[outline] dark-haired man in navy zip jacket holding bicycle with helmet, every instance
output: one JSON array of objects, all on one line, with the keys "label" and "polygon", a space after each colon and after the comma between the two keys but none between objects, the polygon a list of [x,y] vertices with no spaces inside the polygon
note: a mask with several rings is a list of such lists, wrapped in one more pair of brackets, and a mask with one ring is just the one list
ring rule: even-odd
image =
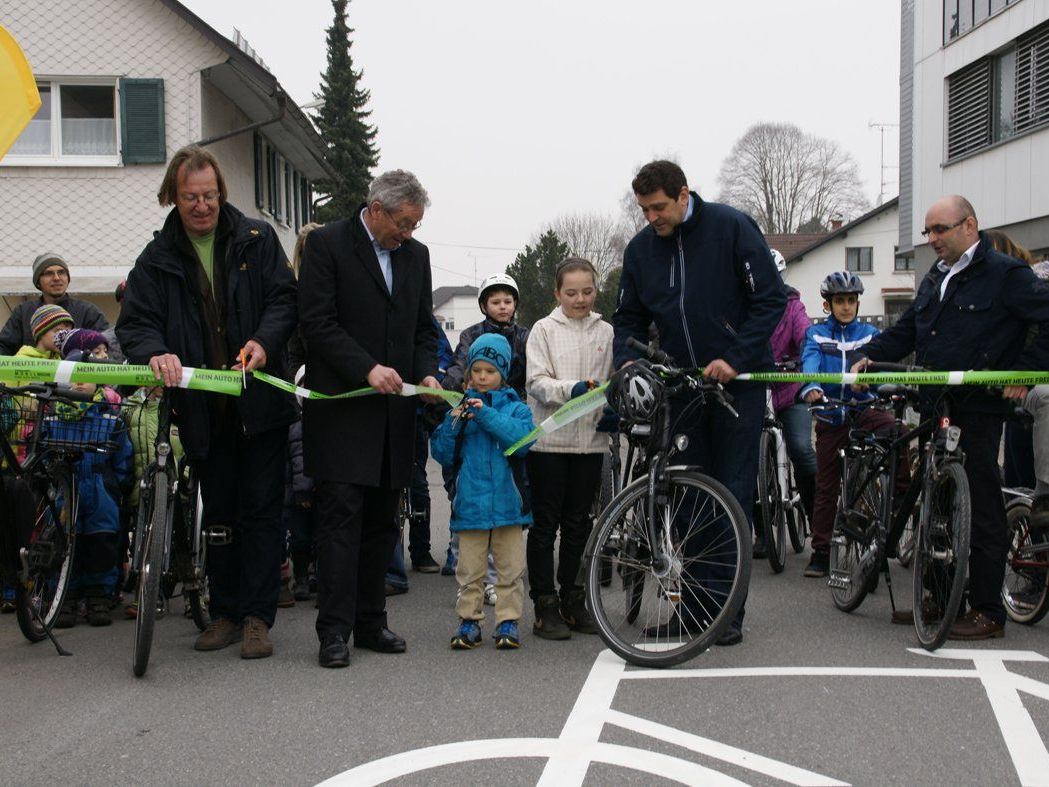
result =
[{"label": "dark-haired man in navy zip jacket holding bicycle with helmet", "polygon": [[[689,438],[680,461],[701,465],[725,484],[750,519],[765,389],[732,380],[741,371],[771,366],[769,338],[787,303],[779,274],[753,219],[728,206],[704,203],[688,190],[677,164],[646,164],[631,186],[648,227],[634,236],[623,255],[619,306],[612,320],[615,365],[636,357],[626,340],[645,341],[655,323],[661,349],[729,384],[738,418],[715,405],[691,410],[687,423],[677,427]],[[740,642],[742,622],[741,611],[719,643]]]}]

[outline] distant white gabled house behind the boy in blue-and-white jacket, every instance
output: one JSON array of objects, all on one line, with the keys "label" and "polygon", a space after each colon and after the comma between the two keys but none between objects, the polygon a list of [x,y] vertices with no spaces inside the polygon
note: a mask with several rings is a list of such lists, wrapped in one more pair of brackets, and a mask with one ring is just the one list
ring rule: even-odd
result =
[{"label": "distant white gabled house behind the boy in blue-and-white jacket", "polygon": [[899,200],[893,198],[787,257],[785,280],[817,319],[825,316],[820,282],[834,271],[853,271],[863,280],[860,316],[892,322],[914,298],[912,260],[897,256],[898,237]]}]

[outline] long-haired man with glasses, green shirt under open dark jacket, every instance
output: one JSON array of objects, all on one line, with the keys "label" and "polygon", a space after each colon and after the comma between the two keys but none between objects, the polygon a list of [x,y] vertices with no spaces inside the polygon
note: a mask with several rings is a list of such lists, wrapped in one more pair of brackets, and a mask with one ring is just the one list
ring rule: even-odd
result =
[{"label": "long-haired man with glasses, green shirt under open dark jacket", "polygon": [[[131,363],[148,363],[168,387],[179,384],[184,365],[287,375],[292,267],[273,228],[248,218],[227,193],[214,155],[196,146],[176,152],[157,194],[174,208],[128,276],[116,335]],[[273,654],[284,456],[296,411],[283,391],[247,381],[238,398],[175,387],[171,402],[211,534],[212,622],[194,647],[242,641],[241,658],[263,658]]]}]

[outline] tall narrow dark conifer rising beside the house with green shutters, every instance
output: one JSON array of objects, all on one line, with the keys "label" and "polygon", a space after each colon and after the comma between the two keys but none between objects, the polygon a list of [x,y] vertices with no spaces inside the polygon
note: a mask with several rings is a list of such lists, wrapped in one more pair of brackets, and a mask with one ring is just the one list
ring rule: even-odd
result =
[{"label": "tall narrow dark conifer rising beside the house with green shutters", "polygon": [[327,29],[327,70],[315,97],[323,100],[317,110],[317,128],[327,148],[327,159],[341,177],[315,184],[318,192],[330,197],[317,210],[320,221],[350,215],[364,201],[371,170],[379,163],[378,129],[368,125],[371,111],[365,109],[371,93],[361,87],[364,71],[354,70],[349,54],[354,29],[346,24],[348,2],[331,0],[335,21]]}]

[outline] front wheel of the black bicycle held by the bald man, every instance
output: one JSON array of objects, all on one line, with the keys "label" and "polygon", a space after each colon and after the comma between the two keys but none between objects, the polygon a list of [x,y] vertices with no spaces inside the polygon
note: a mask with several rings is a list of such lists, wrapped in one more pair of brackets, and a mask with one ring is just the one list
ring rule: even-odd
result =
[{"label": "front wheel of the black bicycle held by the bald man", "polygon": [[915,536],[915,633],[922,647],[935,651],[958,617],[969,563],[969,483],[962,466],[944,464],[921,505],[928,510]]}]

